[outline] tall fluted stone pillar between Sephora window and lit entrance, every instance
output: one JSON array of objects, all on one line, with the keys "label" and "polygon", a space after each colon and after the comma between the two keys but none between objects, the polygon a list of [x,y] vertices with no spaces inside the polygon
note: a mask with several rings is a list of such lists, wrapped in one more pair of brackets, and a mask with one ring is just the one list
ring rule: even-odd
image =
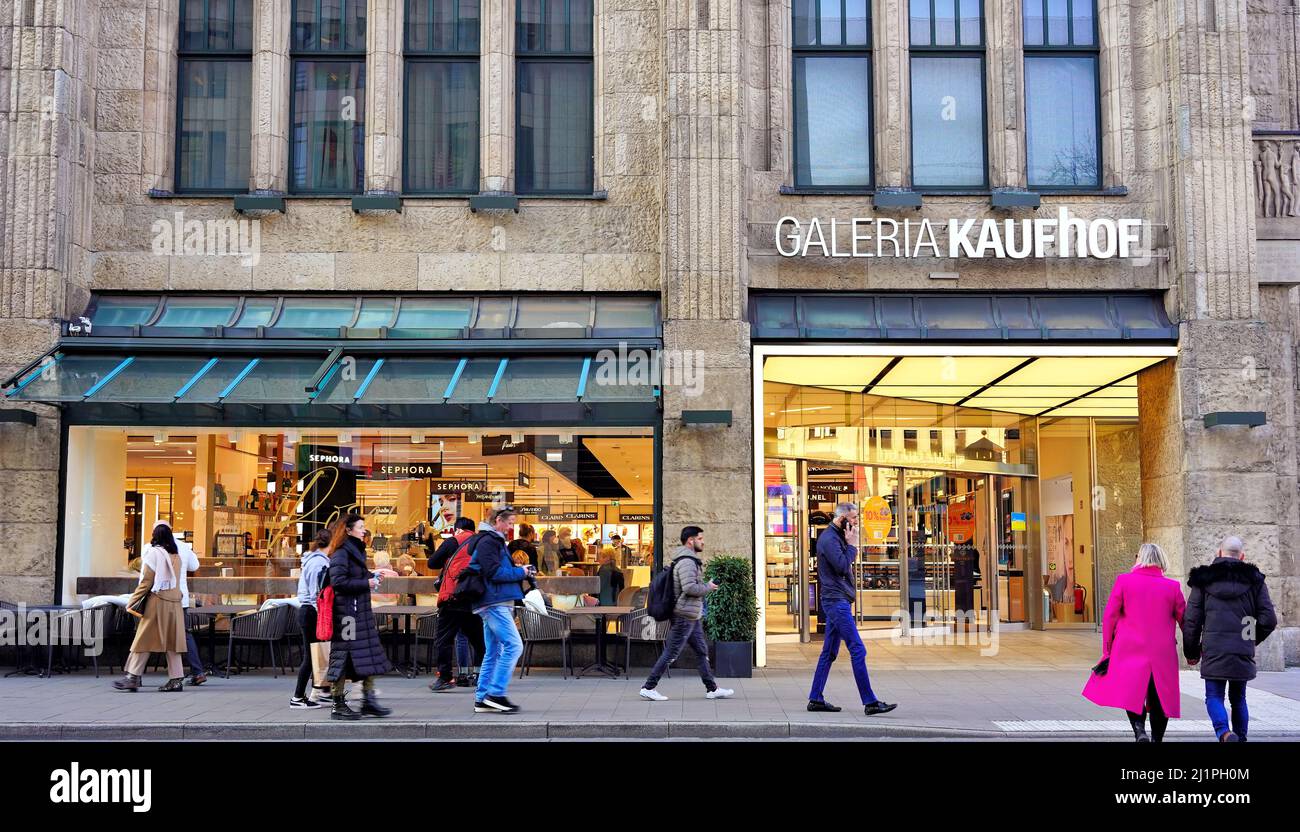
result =
[{"label": "tall fluted stone pillar between Sephora window and lit entrance", "polygon": [[[744,172],[766,161],[753,136],[767,131],[745,116],[766,77],[763,42],[749,48],[745,27],[766,20],[744,0],[668,0],[664,17],[664,347],[701,351],[705,376],[698,396],[664,391],[662,512],[666,543],[698,524],[712,555],[753,552]],[[682,410],[731,411],[732,424],[685,428]]]}]

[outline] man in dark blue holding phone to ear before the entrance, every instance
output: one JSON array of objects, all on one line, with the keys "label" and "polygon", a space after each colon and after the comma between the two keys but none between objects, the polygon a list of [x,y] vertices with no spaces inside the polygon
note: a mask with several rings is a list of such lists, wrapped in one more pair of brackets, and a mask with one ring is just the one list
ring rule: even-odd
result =
[{"label": "man in dark blue holding phone to ear before the entrance", "polygon": [[826,640],[822,642],[822,655],[812,673],[812,689],[809,690],[809,710],[835,712],[840,708],[826,701],[826,680],[831,675],[831,664],[840,655],[840,642],[849,646],[849,660],[853,663],[853,679],[858,682],[858,696],[867,716],[888,714],[898,707],[876,698],[871,692],[871,679],[867,676],[867,649],[858,634],[853,620],[853,598],[857,594],[853,578],[853,562],[857,551],[849,545],[848,533],[858,524],[858,507],[853,503],[840,503],[835,507],[831,520],[816,538],[816,575],[822,593],[822,618],[826,620]]}]

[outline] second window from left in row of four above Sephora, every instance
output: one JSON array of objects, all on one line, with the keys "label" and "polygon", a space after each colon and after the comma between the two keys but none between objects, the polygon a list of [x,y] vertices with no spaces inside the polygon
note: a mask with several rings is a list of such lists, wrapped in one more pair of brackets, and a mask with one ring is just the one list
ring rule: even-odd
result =
[{"label": "second window from left in row of four above Sephora", "polygon": [[290,190],[365,190],[365,0],[294,0],[290,56]]}]

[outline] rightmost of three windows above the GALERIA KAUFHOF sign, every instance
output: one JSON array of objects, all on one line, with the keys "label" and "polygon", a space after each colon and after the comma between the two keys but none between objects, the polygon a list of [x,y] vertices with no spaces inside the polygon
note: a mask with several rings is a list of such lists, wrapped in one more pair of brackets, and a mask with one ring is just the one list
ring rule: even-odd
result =
[{"label": "rightmost of three windows above the GALERIA KAUFHOF sign", "polygon": [[1024,0],[1030,187],[1101,187],[1096,0]]}]

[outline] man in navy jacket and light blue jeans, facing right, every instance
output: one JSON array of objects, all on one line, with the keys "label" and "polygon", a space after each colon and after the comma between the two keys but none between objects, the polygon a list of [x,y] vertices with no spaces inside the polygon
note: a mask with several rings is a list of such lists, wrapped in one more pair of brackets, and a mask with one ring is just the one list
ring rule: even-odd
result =
[{"label": "man in navy jacket and light blue jeans, facing right", "polygon": [[[506,534],[515,525],[515,510],[491,512],[490,523],[480,523],[482,540],[474,546],[471,566],[477,564],[486,590],[473,612],[484,621],[484,662],[478,668],[474,714],[514,714],[519,706],[506,698],[510,675],[524,651],[515,628],[515,602],[524,599],[521,582],[536,575],[530,566],[516,567],[506,551]],[[468,567],[467,567],[468,568]]]}]

